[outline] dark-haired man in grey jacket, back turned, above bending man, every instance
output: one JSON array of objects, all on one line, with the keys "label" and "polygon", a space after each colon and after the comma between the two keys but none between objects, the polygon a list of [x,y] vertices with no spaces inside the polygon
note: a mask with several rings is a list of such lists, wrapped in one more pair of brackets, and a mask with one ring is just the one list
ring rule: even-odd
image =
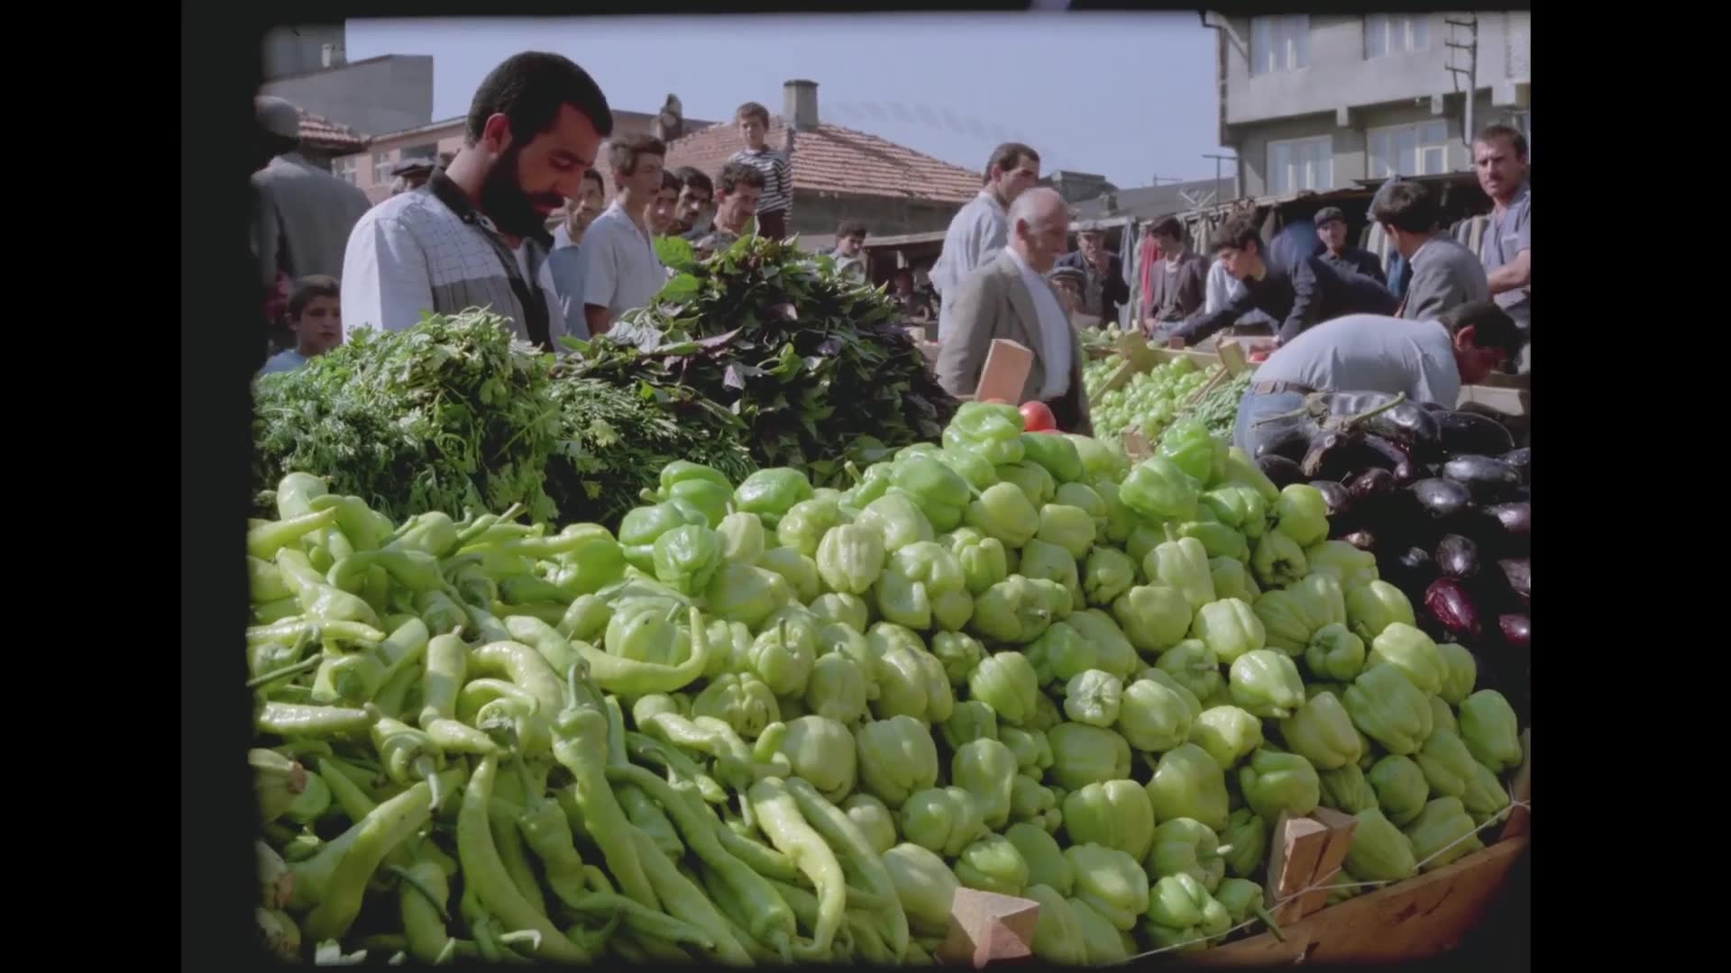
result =
[{"label": "dark-haired man in grey jacket, back turned, above bending man", "polygon": [[1399,317],[1437,320],[1442,312],[1490,300],[1473,251],[1437,232],[1437,197],[1425,184],[1397,182],[1371,203],[1371,218],[1412,265]]}]

